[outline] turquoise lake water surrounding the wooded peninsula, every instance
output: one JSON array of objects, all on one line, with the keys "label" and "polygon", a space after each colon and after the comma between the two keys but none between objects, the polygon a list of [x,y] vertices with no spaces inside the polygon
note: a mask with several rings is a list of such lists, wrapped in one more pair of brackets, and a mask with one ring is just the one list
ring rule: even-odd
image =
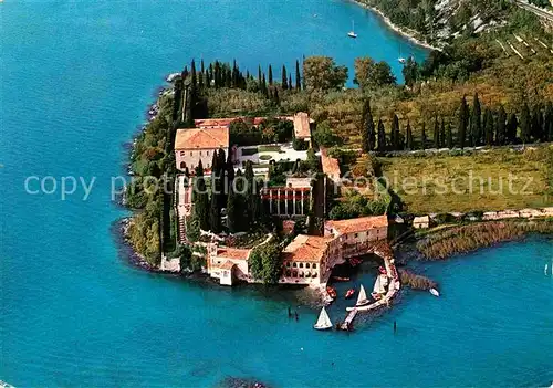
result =
[{"label": "turquoise lake water surrounding the wooded peninsula", "polygon": [[[352,20],[357,40],[345,38]],[[20,387],[210,387],[228,376],[281,387],[553,381],[553,277],[543,274],[551,240],[418,264],[442,297],[406,291],[351,335],[313,331],[317,312],[305,306],[299,323],[289,321],[292,295],[146,273],[118,251],[113,222],[126,212],[111,200],[111,177],[124,172],[125,143],[164,75],[192,56],[236,57],[255,71],[258,63],[291,69],[302,55],[349,66],[371,55],[396,72],[399,53],[424,57],[372,13],[325,0],[6,0],[0,29],[0,379]],[[83,201],[82,188],[65,200],[59,191],[25,193],[30,176],[96,179]]]}]

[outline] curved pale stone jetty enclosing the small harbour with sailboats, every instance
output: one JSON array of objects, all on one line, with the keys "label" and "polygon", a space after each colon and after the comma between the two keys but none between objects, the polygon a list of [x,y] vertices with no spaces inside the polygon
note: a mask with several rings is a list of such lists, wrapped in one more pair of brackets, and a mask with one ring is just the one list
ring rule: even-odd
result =
[{"label": "curved pale stone jetty enclosing the small harbour with sailboats", "polygon": [[[388,242],[379,241],[373,244],[367,253],[374,253],[384,260],[384,265],[386,268],[386,276],[388,277],[388,290],[382,295],[378,301],[371,303],[366,306],[354,306],[347,307],[347,315],[345,319],[340,324],[340,328],[343,331],[349,331],[352,324],[359,312],[369,312],[377,310],[383,306],[389,306],[392,300],[398,294],[401,289],[401,283],[397,274],[396,265],[394,262],[394,253]],[[380,275],[378,275],[380,276]]]}]

